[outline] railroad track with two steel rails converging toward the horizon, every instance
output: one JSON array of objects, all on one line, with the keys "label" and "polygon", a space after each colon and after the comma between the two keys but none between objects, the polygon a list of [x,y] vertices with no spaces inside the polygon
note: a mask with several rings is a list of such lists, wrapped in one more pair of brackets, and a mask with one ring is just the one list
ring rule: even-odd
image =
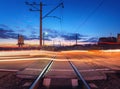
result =
[{"label": "railroad track with two steel rails converging toward the horizon", "polygon": [[[43,68],[43,70],[41,71],[41,73],[39,74],[39,76],[35,79],[35,81],[31,84],[29,89],[91,89],[90,86],[88,85],[88,83],[85,81],[85,79],[82,77],[81,73],[78,71],[78,69],[76,68],[76,66],[70,61],[69,58],[66,57],[66,61],[67,63],[71,66],[72,70],[74,71],[74,74],[77,78],[77,82],[78,85],[77,87],[73,88],[71,85],[69,85],[70,87],[64,87],[64,82],[67,81],[68,79],[64,78],[61,82],[61,84],[63,84],[63,87],[61,88],[60,86],[57,87],[43,87],[43,80],[45,79],[45,75],[47,73],[49,73],[52,64],[54,63],[54,59],[51,59],[51,61],[49,61],[49,63]],[[57,83],[58,80],[56,79],[55,82]],[[52,85],[51,85],[52,86]]]}]

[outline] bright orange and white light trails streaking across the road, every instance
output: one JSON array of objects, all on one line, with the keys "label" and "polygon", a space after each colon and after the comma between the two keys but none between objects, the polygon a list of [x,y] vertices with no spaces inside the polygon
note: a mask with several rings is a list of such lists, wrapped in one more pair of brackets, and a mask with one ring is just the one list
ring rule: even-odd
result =
[{"label": "bright orange and white light trails streaking across the road", "polygon": [[[24,55],[26,55],[25,54],[25,51],[22,51],[23,53],[24,53]],[[34,60],[51,60],[51,58],[50,57],[34,57],[34,56],[41,56],[41,55],[44,55],[44,56],[52,56],[53,54],[51,54],[51,52],[49,52],[49,54],[46,54],[46,53],[48,53],[48,52],[44,52],[44,53],[41,53],[42,51],[40,51],[40,52],[36,52],[36,51],[30,51],[31,53],[30,54],[32,54],[32,56],[30,56],[30,54],[29,54],[29,56],[20,56],[20,55],[16,55],[16,53],[11,53],[12,54],[12,56],[9,56],[10,54],[8,53],[8,52],[4,52],[4,54],[1,54],[0,53],[0,62],[12,62],[12,61],[34,61]],[[23,54],[22,53],[22,54]],[[40,53],[40,54],[39,54]],[[53,53],[53,52],[52,52]],[[90,55],[90,57],[92,58],[92,57],[94,57],[94,55],[91,55],[91,53],[93,54],[96,54],[96,55],[104,55],[104,56],[107,56],[107,57],[109,57],[108,56],[108,54],[106,54],[106,53],[110,53],[110,55],[111,55],[111,53],[117,53],[116,55],[118,55],[119,53],[120,53],[120,49],[116,49],[116,50],[70,50],[70,51],[61,51],[60,52],[61,54],[60,55],[64,55],[64,53],[66,54],[68,54],[68,55],[70,55],[70,56],[75,56],[75,55],[78,55],[78,54],[89,54]],[[69,54],[70,53],[70,54]],[[14,55],[15,54],[15,55]],[[21,53],[20,53],[21,54]],[[54,54],[55,54],[55,52],[54,52]],[[75,55],[74,55],[75,54]],[[4,57],[3,57],[3,55],[4,55]],[[56,52],[56,55],[58,55],[58,53]],[[113,55],[114,56],[114,55]],[[27,57],[27,58],[26,58]],[[28,58],[29,57],[29,58]],[[85,58],[82,58],[82,59],[78,59],[78,58],[74,58],[74,59],[72,59],[72,61],[84,61],[84,59],[86,59],[86,56],[85,56]],[[66,61],[66,59],[64,59],[64,58],[57,58],[57,59],[53,59],[54,61]]]}]

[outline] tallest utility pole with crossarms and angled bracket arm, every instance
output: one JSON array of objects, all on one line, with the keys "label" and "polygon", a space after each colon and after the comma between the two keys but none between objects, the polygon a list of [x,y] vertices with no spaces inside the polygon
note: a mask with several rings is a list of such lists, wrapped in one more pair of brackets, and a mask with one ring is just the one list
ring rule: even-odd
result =
[{"label": "tallest utility pole with crossarms and angled bracket arm", "polygon": [[[42,2],[40,2],[40,4],[37,4],[36,2],[33,2],[33,3],[29,3],[29,2],[25,2],[26,5],[29,5],[29,6],[32,6],[35,10],[33,9],[30,9],[30,11],[39,11],[40,12],[40,48],[42,48],[42,20],[45,18],[45,17],[51,17],[49,16],[49,14],[51,14],[54,10],[56,10],[58,7],[62,6],[62,8],[64,8],[64,5],[63,3],[60,3],[58,4],[55,8],[53,8],[51,11],[49,11],[45,16],[42,16],[42,9],[43,9],[43,6],[44,4]],[[39,5],[39,8],[37,8],[36,6]],[[58,18],[56,16],[52,16],[54,18]]]}]

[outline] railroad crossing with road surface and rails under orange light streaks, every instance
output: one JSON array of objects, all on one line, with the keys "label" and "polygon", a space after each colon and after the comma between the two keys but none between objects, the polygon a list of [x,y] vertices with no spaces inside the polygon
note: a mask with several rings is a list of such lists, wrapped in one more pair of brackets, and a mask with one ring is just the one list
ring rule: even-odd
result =
[{"label": "railroad crossing with road surface and rails under orange light streaks", "polygon": [[106,80],[106,73],[120,70],[118,55],[119,52],[103,51],[1,52],[0,71],[1,76],[4,72],[14,72],[17,78],[25,79],[20,83],[24,89],[32,89],[38,81],[38,89],[79,89],[83,86],[82,89],[95,89],[98,86],[91,81]]}]

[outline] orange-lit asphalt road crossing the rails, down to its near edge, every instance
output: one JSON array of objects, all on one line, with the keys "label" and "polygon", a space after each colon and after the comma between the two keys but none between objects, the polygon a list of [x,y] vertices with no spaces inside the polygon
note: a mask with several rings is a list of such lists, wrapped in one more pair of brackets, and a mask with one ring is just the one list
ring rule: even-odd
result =
[{"label": "orange-lit asphalt road crossing the rails, down to its near edge", "polygon": [[[2,51],[0,52],[0,77],[5,72],[21,78],[35,78],[45,65],[55,56],[47,78],[76,78],[69,59],[77,67],[85,80],[106,79],[106,73],[120,71],[119,51]],[[5,74],[3,74],[3,72]]]}]

